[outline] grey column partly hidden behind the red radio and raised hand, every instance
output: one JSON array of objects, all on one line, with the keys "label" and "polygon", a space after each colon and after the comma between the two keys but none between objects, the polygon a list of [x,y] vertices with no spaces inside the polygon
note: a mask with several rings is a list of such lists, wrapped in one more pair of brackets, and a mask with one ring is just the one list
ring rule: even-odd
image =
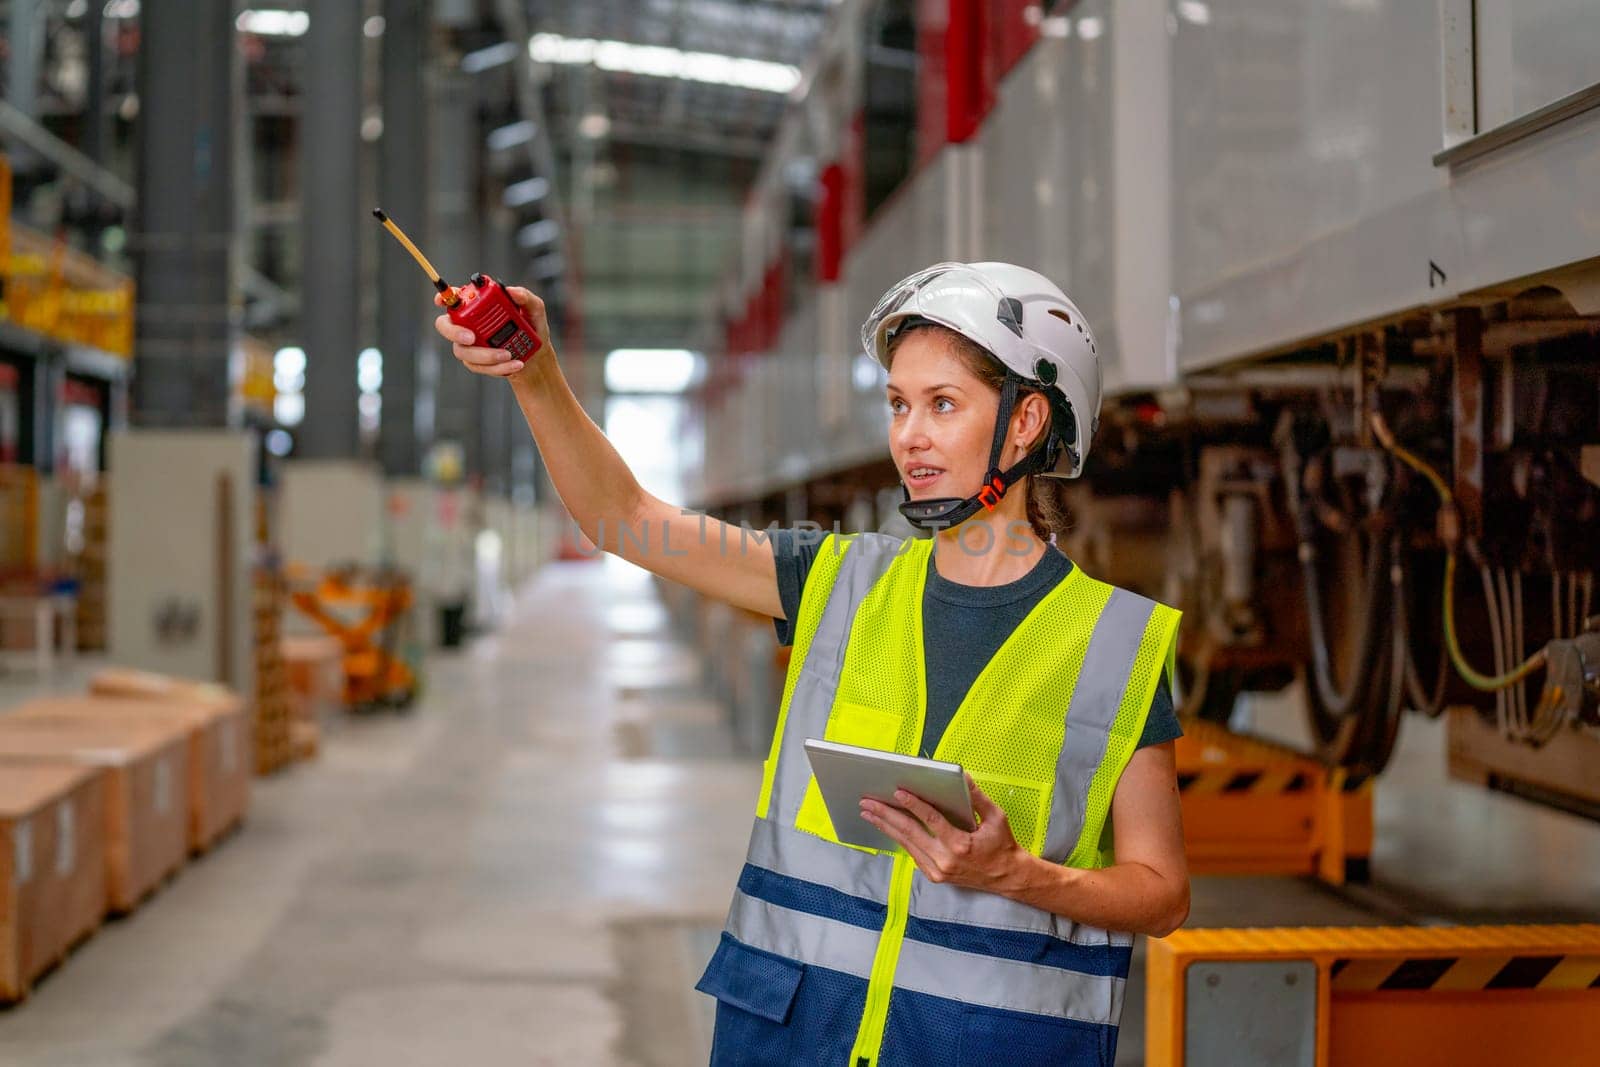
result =
[{"label": "grey column partly hidden behind the red radio and raised hand", "polygon": [[[483,158],[483,139],[472,78],[459,70],[438,70],[429,110],[432,122],[427,131],[432,165],[429,242],[434,250],[430,258],[446,280],[461,283],[469,274],[482,269],[477,262],[477,168]],[[486,382],[462,368],[451,357],[448,346],[438,344],[437,350],[434,438],[461,445],[470,478],[483,470],[478,442],[480,395],[485,392],[483,386],[502,382]]]}]

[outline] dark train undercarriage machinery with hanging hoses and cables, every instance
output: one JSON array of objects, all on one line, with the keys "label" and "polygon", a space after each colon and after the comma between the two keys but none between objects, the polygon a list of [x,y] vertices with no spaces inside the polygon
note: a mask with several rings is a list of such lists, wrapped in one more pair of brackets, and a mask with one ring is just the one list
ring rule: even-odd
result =
[{"label": "dark train undercarriage machinery with hanging hoses and cables", "polygon": [[[1189,518],[1171,530],[1200,553],[1184,587],[1198,616],[1190,713],[1226,721],[1237,691],[1298,678],[1317,753],[1363,774],[1387,765],[1406,713],[1446,709],[1453,731],[1459,720],[1474,744],[1518,758],[1600,750],[1600,544],[1584,533],[1600,528],[1600,486],[1582,430],[1563,434],[1600,414],[1584,410],[1594,373],[1579,366],[1587,390],[1562,390],[1571,365],[1530,350],[1485,386],[1482,368],[1458,376],[1459,358],[1430,358],[1438,346],[1390,330],[1334,346],[1320,368],[1218,376],[1210,389],[1243,397],[1250,426],[1170,413],[1165,434],[1194,456]],[[1405,360],[1390,374],[1394,352]],[[1478,437],[1442,418],[1459,414],[1464,389],[1498,394]],[[1478,464],[1454,472],[1462,501],[1442,470],[1478,443]],[[1586,763],[1549,763],[1573,761]],[[1590,813],[1592,792],[1563,779],[1539,798]]]}]

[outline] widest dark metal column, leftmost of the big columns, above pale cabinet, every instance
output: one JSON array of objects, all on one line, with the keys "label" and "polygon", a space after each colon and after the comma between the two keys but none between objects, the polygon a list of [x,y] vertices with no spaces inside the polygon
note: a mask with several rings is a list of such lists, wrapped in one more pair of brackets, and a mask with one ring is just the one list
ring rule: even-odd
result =
[{"label": "widest dark metal column, leftmost of the big columns, above pale cabinet", "polygon": [[134,374],[141,427],[229,424],[234,237],[232,5],[141,14]]}]

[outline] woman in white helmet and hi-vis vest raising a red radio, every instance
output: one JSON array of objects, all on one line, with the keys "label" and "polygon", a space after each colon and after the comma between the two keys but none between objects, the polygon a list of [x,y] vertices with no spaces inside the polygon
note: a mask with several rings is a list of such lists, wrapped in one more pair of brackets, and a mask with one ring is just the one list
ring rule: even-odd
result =
[{"label": "woman in white helmet and hi-vis vest raising a red radio", "polygon": [[[1163,675],[1178,613],[1054,547],[1054,478],[1099,411],[1078,309],[1010,264],[939,264],[862,330],[888,368],[901,512],[931,537],[749,542],[643,490],[546,349],[526,366],[440,317],[456,357],[510,378],[563,502],[603,547],[778,619],[794,641],[728,926],[698,989],[714,1064],[1110,1064],[1133,936],[1189,912]],[[603,525],[602,525],[603,523]],[[654,531],[674,550],[651,552]],[[739,545],[730,550],[728,545]],[[861,801],[901,848],[838,843],[802,742],[962,763],[978,829],[917,797]]]}]

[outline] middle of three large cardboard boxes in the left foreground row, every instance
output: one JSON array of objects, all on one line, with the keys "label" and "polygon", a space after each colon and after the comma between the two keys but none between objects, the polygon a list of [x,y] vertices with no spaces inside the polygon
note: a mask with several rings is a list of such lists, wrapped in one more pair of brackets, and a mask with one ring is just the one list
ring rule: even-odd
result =
[{"label": "middle of three large cardboard boxes in the left foreground row", "polygon": [[150,723],[0,715],[0,761],[61,760],[106,771],[110,910],[131,912],[189,851],[189,733]]}]

